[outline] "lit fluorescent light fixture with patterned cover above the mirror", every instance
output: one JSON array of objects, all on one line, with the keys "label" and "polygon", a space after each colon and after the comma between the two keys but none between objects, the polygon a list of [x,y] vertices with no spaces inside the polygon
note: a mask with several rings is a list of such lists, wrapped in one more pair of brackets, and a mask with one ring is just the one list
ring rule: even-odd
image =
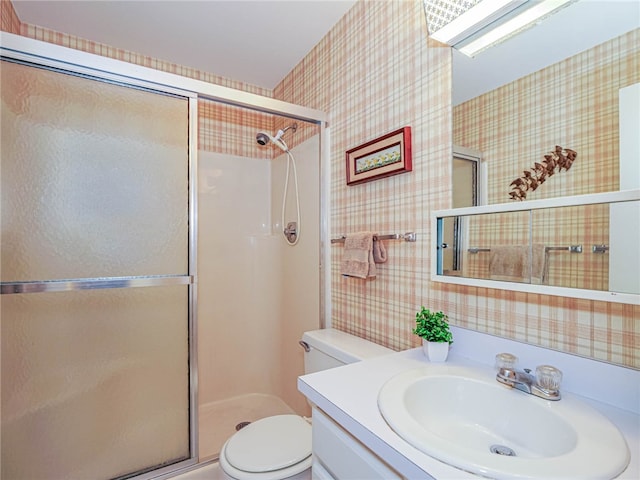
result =
[{"label": "lit fluorescent light fixture with patterned cover above the mirror", "polygon": [[423,0],[431,38],[474,56],[574,0]]}]

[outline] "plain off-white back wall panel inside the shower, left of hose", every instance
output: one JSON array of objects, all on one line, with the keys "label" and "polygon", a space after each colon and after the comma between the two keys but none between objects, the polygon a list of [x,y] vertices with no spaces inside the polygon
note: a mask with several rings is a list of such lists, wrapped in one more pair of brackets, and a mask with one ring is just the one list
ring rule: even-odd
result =
[{"label": "plain off-white back wall panel inside the shower, left of hose", "polygon": [[199,152],[199,403],[275,394],[280,258],[270,164]]}]

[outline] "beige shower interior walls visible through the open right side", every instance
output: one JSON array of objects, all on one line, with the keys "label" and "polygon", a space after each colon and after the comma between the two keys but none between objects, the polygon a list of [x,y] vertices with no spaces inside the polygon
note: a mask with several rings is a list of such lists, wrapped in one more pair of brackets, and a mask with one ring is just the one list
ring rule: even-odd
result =
[{"label": "beige shower interior walls visible through the open right side", "polygon": [[[199,114],[198,403],[207,458],[242,421],[308,413],[296,377],[298,340],[319,327],[319,140],[285,136],[302,212],[300,240],[289,246],[280,226],[287,156],[255,141],[258,131],[283,128],[278,119],[209,101]],[[291,170],[285,221],[295,220],[293,186]]]}]

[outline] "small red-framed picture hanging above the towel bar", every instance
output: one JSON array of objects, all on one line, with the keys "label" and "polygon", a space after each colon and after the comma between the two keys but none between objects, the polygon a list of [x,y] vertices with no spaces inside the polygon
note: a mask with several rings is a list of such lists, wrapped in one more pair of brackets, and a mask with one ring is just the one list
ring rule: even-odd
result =
[{"label": "small red-framed picture hanging above the towel bar", "polygon": [[411,127],[404,127],[346,153],[347,185],[411,171]]}]

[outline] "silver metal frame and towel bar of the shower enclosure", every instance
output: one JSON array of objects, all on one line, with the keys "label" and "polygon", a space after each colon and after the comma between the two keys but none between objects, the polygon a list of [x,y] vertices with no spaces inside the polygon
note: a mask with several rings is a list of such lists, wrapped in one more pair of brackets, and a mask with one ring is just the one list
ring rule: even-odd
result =
[{"label": "silver metal frame and towel bar of the shower enclosure", "polygon": [[[115,60],[100,55],[62,47],[52,43],[0,32],[0,55],[13,59],[72,72],[76,75],[87,75],[103,81],[113,81],[129,86],[140,86],[189,98],[189,275],[181,277],[120,277],[110,279],[94,279],[87,283],[86,279],[73,279],[66,282],[13,282],[1,287],[2,294],[29,291],[45,291],[42,289],[65,290],[87,288],[123,288],[144,287],[150,285],[189,284],[189,377],[190,377],[190,450],[191,458],[183,462],[139,475],[137,479],[169,478],[181,469],[187,471],[198,466],[198,404],[197,404],[197,142],[198,142],[198,99],[212,100],[224,104],[244,107],[264,113],[271,113],[293,120],[315,123],[320,128],[320,312],[319,325],[330,325],[331,314],[331,278],[329,245],[329,198],[330,198],[330,149],[327,114],[316,109],[295,105],[282,100],[244,92],[221,85],[195,80],[181,75],[155,70],[132,63]],[[175,283],[174,283],[175,282]],[[5,291],[6,290],[6,291]]]}]

